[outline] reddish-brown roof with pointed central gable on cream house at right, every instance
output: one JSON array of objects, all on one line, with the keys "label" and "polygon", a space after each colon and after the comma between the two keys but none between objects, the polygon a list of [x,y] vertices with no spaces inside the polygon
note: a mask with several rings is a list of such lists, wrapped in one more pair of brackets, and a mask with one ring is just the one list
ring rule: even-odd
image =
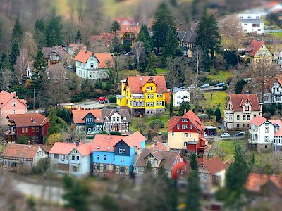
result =
[{"label": "reddish-brown roof with pointed central gable on cream house at right", "polygon": [[228,98],[232,103],[233,111],[243,111],[243,102],[247,100],[252,105],[252,111],[262,111],[257,94],[229,94]]}]

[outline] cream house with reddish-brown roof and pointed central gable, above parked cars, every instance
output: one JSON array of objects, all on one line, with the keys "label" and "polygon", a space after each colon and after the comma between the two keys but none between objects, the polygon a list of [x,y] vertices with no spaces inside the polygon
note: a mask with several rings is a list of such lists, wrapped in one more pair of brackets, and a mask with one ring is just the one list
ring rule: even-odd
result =
[{"label": "cream house with reddish-brown roof and pointed central gable, above parked cars", "polygon": [[227,129],[250,129],[250,120],[259,115],[262,115],[262,103],[257,94],[229,94],[223,124]]}]

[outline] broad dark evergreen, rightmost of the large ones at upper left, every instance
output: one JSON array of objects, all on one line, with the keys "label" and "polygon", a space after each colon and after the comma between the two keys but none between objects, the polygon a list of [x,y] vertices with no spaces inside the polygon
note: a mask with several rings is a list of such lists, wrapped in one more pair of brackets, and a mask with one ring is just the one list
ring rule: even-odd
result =
[{"label": "broad dark evergreen, rightmost of the large ones at upper left", "polygon": [[51,47],[63,44],[62,30],[61,16],[56,15],[56,11],[52,11],[52,15],[47,20],[45,30],[47,46]]}]

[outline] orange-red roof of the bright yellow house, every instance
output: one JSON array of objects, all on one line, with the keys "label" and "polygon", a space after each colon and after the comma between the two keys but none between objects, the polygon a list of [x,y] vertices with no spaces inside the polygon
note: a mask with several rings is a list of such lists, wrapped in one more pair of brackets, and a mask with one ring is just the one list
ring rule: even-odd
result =
[{"label": "orange-red roof of the bright yellow house", "polygon": [[152,80],[157,85],[157,93],[166,93],[166,79],[164,76],[128,76],[126,85],[128,84],[131,93],[143,93],[142,87],[149,81]]}]

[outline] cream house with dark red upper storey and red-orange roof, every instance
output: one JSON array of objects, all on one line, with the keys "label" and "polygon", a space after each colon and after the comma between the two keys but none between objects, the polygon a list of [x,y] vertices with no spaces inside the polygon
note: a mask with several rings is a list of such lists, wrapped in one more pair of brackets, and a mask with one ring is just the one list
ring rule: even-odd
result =
[{"label": "cream house with dark red upper storey and red-orange roof", "polygon": [[173,116],[168,120],[168,146],[171,151],[180,151],[182,155],[204,153],[207,151],[204,129],[204,124],[192,110],[182,117]]}]

